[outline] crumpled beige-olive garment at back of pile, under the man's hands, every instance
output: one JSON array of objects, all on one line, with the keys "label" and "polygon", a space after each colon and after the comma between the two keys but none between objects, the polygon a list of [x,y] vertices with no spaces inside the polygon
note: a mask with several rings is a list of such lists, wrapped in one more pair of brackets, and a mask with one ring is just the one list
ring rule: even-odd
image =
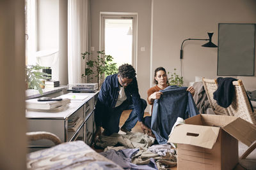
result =
[{"label": "crumpled beige-olive garment at back of pile, under the man's hands", "polygon": [[113,133],[111,136],[101,136],[96,146],[106,148],[108,146],[125,146],[126,148],[148,148],[153,145],[155,138],[141,132],[127,134]]}]

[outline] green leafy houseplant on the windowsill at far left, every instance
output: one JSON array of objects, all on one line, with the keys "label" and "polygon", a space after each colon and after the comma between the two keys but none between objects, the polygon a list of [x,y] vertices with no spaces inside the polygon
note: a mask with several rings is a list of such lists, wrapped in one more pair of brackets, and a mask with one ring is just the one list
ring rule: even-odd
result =
[{"label": "green leafy houseplant on the windowsill at far left", "polygon": [[42,80],[46,80],[51,76],[51,74],[47,73],[42,73],[41,69],[47,69],[48,67],[42,67],[38,65],[26,65],[25,68],[25,78],[26,78],[26,83],[28,85],[28,89],[37,89],[40,94],[43,94],[43,90],[40,87],[44,86],[45,84],[43,83]]}]

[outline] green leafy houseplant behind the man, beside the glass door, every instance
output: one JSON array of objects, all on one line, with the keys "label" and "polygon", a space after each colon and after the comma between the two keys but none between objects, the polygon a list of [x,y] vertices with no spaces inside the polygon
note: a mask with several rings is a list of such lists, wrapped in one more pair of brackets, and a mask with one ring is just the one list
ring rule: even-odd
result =
[{"label": "green leafy houseplant behind the man, beside the glass door", "polygon": [[[95,70],[95,77],[97,78],[98,87],[100,87],[100,79],[110,74],[115,74],[118,72],[118,68],[116,63],[113,63],[113,57],[111,55],[106,55],[104,50],[97,51],[97,59],[90,60],[88,57],[92,54],[90,52],[81,53],[82,58],[86,61],[86,68],[84,70],[84,74],[82,77],[90,76],[93,74],[93,70]],[[93,77],[91,77],[91,80]]]}]

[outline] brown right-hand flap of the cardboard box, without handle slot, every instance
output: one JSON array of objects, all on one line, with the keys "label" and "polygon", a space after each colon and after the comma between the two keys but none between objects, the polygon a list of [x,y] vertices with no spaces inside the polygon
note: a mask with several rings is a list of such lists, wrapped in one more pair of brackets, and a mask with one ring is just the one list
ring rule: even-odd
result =
[{"label": "brown right-hand flap of the cardboard box, without handle slot", "polygon": [[230,124],[222,127],[222,129],[247,146],[256,141],[256,126],[242,118],[236,118]]}]

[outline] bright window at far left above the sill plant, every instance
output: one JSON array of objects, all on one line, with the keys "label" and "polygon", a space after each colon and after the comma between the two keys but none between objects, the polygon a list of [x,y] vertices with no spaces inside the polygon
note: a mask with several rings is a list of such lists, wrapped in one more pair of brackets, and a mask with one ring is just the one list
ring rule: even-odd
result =
[{"label": "bright window at far left above the sill plant", "polygon": [[26,0],[26,64],[51,67],[59,72],[59,1]]}]

